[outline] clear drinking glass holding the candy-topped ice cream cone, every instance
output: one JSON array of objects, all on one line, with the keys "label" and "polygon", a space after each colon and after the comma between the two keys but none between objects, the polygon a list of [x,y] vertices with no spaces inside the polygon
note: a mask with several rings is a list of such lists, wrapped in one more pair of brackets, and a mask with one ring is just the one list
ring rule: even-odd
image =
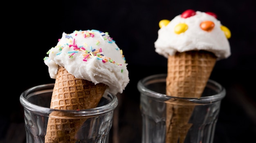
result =
[{"label": "clear drinking glass holding the candy-topped ice cream cone", "polygon": [[[148,76],[139,80],[137,84],[142,115],[142,143],[165,143],[166,104],[184,108],[193,106],[188,122],[192,126],[182,143],[213,143],[220,103],[226,95],[225,88],[213,80],[208,80],[201,98],[167,96],[165,95],[166,76],[166,74]],[[178,136],[179,139],[172,143],[181,143],[181,134]]]}]

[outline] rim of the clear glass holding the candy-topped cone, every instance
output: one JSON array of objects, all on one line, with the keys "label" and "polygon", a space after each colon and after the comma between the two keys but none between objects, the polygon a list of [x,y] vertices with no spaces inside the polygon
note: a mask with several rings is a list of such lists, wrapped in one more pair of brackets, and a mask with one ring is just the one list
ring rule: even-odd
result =
[{"label": "rim of the clear glass holding the candy-topped cone", "polygon": [[[208,104],[208,103],[216,102],[216,101],[222,100],[226,95],[226,89],[222,85],[220,85],[218,82],[211,80],[211,79],[208,80],[207,85],[208,85],[208,83],[213,84],[213,86],[218,87],[219,92],[215,95],[209,95],[209,96],[204,96],[204,97],[200,97],[200,98],[182,98],[182,97],[168,96],[166,94],[157,93],[155,91],[152,91],[152,90],[148,89],[147,87],[145,87],[145,85],[144,85],[148,80],[154,79],[156,77],[157,77],[157,80],[161,79],[162,82],[166,82],[166,76],[167,76],[167,74],[154,74],[151,76],[146,76],[138,81],[137,89],[139,90],[139,92],[141,92],[151,98],[154,98],[155,100],[159,100],[159,101],[167,101],[170,99],[176,99],[176,100],[186,100],[188,102],[196,102],[198,104]],[[149,82],[148,84],[150,84],[150,83],[152,83],[152,81]]]}]

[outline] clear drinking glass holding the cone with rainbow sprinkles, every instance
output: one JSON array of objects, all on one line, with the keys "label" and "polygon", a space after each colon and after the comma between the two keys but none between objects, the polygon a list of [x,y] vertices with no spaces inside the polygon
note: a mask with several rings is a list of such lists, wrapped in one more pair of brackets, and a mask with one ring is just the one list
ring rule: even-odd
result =
[{"label": "clear drinking glass holding the cone with rainbow sprinkles", "polygon": [[64,115],[63,118],[67,120],[84,121],[75,134],[78,139],[76,143],[108,143],[113,111],[118,104],[117,96],[110,93],[103,95],[96,108],[80,111],[54,110],[49,108],[53,87],[54,84],[38,85],[20,95],[20,103],[24,107],[27,143],[45,143],[47,122],[52,112]]}]

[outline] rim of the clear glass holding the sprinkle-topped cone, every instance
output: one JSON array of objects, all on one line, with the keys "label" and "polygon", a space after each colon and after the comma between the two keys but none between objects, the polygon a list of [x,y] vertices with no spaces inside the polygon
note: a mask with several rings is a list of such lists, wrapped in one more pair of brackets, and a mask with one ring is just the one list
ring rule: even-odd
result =
[{"label": "rim of the clear glass holding the sprinkle-topped cone", "polygon": [[[103,105],[103,106],[99,106],[96,108],[90,108],[90,109],[83,109],[83,110],[60,110],[60,109],[52,109],[52,108],[47,108],[47,107],[43,107],[43,106],[39,106],[36,104],[33,104],[31,102],[29,102],[27,100],[27,98],[29,97],[29,94],[33,93],[34,91],[36,91],[36,89],[39,88],[43,88],[46,89],[45,91],[47,92],[52,92],[53,91],[53,87],[54,87],[54,83],[49,83],[49,84],[43,84],[43,85],[37,85],[34,87],[31,87],[25,91],[23,91],[20,95],[20,104],[30,110],[33,111],[35,113],[38,113],[40,115],[49,115],[50,113],[56,111],[59,113],[63,113],[65,115],[72,115],[74,117],[81,117],[81,116],[95,116],[95,115],[101,115],[104,113],[108,113],[110,111],[113,111],[117,105],[118,105],[118,99],[117,96],[112,94],[112,93],[107,93],[107,96],[109,98],[112,99],[112,101],[110,101],[108,104]],[[36,93],[40,93],[40,91],[36,91]],[[28,95],[27,98],[25,98],[25,95]]]}]

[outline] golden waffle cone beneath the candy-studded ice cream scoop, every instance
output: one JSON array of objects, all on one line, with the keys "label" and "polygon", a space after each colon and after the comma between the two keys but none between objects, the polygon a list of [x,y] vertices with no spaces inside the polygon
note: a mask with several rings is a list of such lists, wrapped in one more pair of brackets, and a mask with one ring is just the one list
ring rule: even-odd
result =
[{"label": "golden waffle cone beneath the candy-studded ice cream scoop", "polygon": [[[216,56],[203,50],[168,56],[166,95],[200,98],[215,63]],[[193,109],[193,105],[166,104],[166,143],[184,142],[192,126],[189,119]]]}]

